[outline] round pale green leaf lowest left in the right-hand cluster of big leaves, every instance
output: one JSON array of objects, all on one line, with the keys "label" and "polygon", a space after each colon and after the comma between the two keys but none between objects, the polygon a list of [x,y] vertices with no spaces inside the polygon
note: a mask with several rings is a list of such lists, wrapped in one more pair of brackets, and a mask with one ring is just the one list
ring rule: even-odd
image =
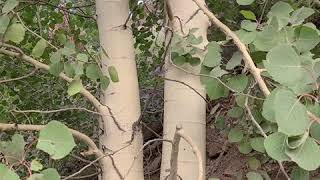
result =
[{"label": "round pale green leaf lowest left in the right-hand cluster of big leaves", "polygon": [[269,135],[264,140],[264,147],[267,154],[277,161],[289,161],[290,158],[285,153],[287,136],[276,132]]}]

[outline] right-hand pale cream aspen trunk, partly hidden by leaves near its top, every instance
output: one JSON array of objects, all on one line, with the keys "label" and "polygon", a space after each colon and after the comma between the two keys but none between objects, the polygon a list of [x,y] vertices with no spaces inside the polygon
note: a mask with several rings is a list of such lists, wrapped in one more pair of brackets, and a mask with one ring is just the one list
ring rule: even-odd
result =
[{"label": "right-hand pale cream aspen trunk, partly hidden by leaves near its top", "polygon": [[[195,35],[203,37],[203,43],[199,47],[207,44],[207,28],[209,20],[199,11],[187,24],[186,21],[198,10],[197,5],[192,0],[167,0],[169,8],[167,11],[172,12],[172,29],[181,33],[180,22],[185,33],[191,28],[199,28]],[[203,1],[204,3],[204,1]],[[175,16],[179,17],[176,18]],[[171,54],[170,52],[168,54]],[[170,56],[166,59],[166,78],[185,82],[205,97],[204,87],[201,85],[200,77],[187,74],[170,63]],[[184,69],[193,73],[200,73],[200,65],[192,67],[184,65]],[[189,87],[176,82],[165,82],[165,104],[164,104],[164,138],[173,139],[176,125],[181,124],[196,143],[201,151],[203,162],[205,162],[205,145],[206,145],[206,103]],[[190,146],[184,141],[180,142],[180,152],[178,156],[178,175],[183,180],[195,180],[198,176],[198,162]],[[162,151],[161,180],[166,179],[167,169],[170,169],[171,144],[164,142]],[[203,164],[205,167],[205,164]],[[179,179],[179,178],[177,178]]]}]

